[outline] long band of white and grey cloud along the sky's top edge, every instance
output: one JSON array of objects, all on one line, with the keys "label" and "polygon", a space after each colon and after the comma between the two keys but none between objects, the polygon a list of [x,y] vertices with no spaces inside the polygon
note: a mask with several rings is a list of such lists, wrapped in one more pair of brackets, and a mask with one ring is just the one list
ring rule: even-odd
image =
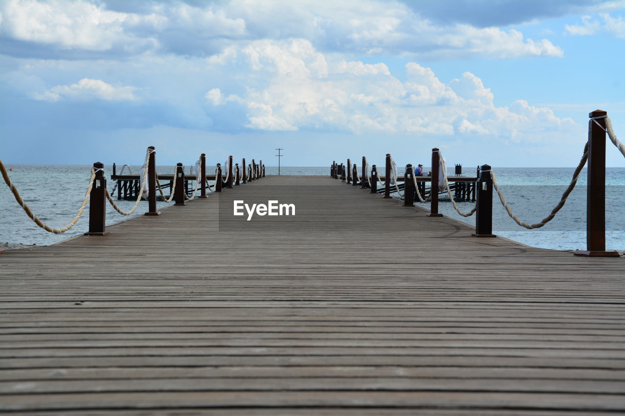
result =
[{"label": "long band of white and grey cloud along the sky's top edge", "polygon": [[[201,6],[155,1],[133,12],[118,12],[81,0],[9,0],[0,4],[0,36],[66,53],[74,51],[73,57],[155,51],[222,59],[232,50],[228,48],[245,42],[292,38],[308,39],[319,51],[410,54],[429,59],[509,59],[563,53],[547,39],[526,39],[519,31],[497,27],[436,23],[394,1],[194,4]],[[6,51],[41,54],[36,47],[17,51],[6,47]],[[79,53],[85,51],[91,55]]]}]

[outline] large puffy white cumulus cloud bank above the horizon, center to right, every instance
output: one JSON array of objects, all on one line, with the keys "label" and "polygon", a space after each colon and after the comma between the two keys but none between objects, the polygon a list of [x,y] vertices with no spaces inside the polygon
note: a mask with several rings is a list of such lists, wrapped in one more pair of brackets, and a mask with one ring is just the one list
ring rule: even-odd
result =
[{"label": "large puffy white cumulus cloud bank above the horizon, center to right", "polygon": [[[471,72],[445,84],[430,68],[411,62],[402,82],[382,64],[347,62],[302,39],[252,42],[231,54],[242,55],[247,59],[232,58],[212,69],[246,74],[239,86],[246,93],[237,97],[237,104],[245,110],[245,126],[252,129],[479,134],[513,141],[532,132],[527,140],[539,141],[534,132],[577,127],[571,119],[525,101],[496,107],[491,90]],[[212,89],[206,98],[222,102],[222,92]]]}]

